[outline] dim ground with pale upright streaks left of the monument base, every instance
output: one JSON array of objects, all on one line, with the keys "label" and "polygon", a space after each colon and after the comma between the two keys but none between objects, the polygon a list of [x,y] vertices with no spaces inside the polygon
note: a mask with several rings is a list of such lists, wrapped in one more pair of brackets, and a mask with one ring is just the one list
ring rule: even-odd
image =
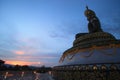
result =
[{"label": "dim ground with pale upright streaks left of the monument base", "polygon": [[53,80],[48,73],[0,72],[0,80]]}]

